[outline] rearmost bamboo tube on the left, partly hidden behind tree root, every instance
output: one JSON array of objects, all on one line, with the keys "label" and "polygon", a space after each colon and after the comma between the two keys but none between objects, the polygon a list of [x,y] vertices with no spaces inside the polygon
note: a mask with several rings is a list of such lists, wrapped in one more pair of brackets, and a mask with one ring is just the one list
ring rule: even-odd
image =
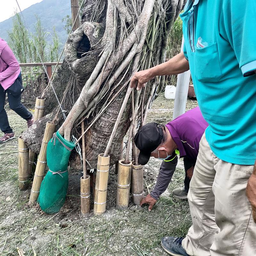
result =
[{"label": "rearmost bamboo tube on the left, partly hidden behind tree root", "polygon": [[[45,99],[42,99],[41,97],[36,98],[36,104],[35,104],[35,114],[34,114],[34,122],[39,120],[44,116],[44,106],[45,106]],[[34,173],[36,170],[36,160],[37,160],[37,154],[33,152],[32,150],[29,150],[29,173]]]}]

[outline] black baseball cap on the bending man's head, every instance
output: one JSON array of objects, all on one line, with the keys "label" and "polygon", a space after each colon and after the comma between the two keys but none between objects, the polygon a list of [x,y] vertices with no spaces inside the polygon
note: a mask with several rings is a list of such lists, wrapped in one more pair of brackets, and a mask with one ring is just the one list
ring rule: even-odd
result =
[{"label": "black baseball cap on the bending man's head", "polygon": [[134,142],[140,150],[138,163],[145,165],[148,163],[151,152],[153,152],[163,139],[163,125],[148,123],[140,128],[134,137]]}]

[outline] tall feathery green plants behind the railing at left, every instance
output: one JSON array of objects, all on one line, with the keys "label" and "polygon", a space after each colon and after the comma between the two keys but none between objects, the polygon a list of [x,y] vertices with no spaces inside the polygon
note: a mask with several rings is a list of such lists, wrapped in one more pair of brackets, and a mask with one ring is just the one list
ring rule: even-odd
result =
[{"label": "tall feathery green plants behind the railing at left", "polygon": [[[13,17],[13,28],[8,31],[8,43],[16,58],[20,63],[41,62],[37,49],[43,62],[57,61],[61,43],[55,27],[52,33],[46,32],[42,27],[41,19],[36,16],[34,28],[36,32],[29,35],[20,14],[16,13]],[[51,37],[53,43],[47,40],[48,37]]]}]

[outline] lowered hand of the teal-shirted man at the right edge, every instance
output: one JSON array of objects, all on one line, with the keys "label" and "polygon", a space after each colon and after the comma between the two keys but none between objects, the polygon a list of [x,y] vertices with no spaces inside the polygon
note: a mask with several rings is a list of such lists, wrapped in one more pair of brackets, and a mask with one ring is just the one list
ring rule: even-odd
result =
[{"label": "lowered hand of the teal-shirted man at the right edge", "polygon": [[252,216],[254,222],[256,223],[256,161],[254,164],[252,175],[248,180],[248,184],[246,187],[246,196],[248,197],[252,205]]}]

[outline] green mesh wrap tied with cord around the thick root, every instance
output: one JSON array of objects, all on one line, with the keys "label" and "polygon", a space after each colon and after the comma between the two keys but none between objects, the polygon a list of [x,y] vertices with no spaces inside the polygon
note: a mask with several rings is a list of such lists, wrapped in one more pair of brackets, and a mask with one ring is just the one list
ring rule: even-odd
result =
[{"label": "green mesh wrap tied with cord around the thick root", "polygon": [[65,140],[57,131],[48,142],[46,159],[49,171],[42,181],[38,203],[49,214],[59,212],[68,190],[68,159],[75,144]]}]

